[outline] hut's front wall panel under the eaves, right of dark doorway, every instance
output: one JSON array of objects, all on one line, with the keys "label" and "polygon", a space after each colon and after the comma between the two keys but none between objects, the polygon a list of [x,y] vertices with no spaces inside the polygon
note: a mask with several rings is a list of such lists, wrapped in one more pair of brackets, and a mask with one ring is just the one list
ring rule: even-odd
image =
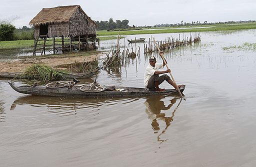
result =
[{"label": "hut's front wall panel under the eaves, right of dark doorway", "polygon": [[68,22],[54,22],[48,24],[48,37],[68,37]]}]

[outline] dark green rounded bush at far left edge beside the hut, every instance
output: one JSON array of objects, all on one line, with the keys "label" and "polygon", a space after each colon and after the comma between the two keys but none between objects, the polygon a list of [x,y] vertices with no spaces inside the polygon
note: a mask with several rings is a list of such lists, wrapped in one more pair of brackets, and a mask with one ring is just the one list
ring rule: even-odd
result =
[{"label": "dark green rounded bush at far left edge beside the hut", "polygon": [[0,24],[0,40],[13,40],[15,26],[9,23]]}]

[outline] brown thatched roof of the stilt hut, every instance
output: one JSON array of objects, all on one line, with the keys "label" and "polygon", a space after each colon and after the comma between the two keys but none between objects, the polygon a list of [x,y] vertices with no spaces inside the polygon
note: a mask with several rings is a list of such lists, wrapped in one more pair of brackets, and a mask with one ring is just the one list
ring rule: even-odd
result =
[{"label": "brown thatched roof of the stilt hut", "polygon": [[[36,26],[46,23],[68,22],[69,18],[77,8],[80,8],[80,10],[85,14],[80,5],[42,8],[42,10],[29,22],[29,24]],[[95,24],[95,22],[91,20],[90,17],[88,17],[88,20]]]}]

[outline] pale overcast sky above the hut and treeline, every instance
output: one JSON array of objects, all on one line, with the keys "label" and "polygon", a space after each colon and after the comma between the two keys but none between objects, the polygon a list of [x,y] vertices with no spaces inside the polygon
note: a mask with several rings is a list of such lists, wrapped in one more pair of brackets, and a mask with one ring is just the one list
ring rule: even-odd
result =
[{"label": "pale overcast sky above the hut and treeline", "polygon": [[93,20],[127,19],[130,26],[256,19],[256,0],[1,0],[0,20],[28,26],[42,8],[74,4]]}]

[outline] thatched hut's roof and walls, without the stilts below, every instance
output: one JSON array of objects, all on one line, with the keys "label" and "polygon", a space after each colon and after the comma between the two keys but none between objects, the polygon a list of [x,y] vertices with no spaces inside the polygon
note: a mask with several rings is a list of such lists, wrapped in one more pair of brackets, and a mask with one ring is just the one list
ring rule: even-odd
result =
[{"label": "thatched hut's roof and walls, without the stilts below", "polygon": [[29,22],[34,25],[34,37],[96,36],[96,24],[81,9],[80,5],[42,8]]}]

